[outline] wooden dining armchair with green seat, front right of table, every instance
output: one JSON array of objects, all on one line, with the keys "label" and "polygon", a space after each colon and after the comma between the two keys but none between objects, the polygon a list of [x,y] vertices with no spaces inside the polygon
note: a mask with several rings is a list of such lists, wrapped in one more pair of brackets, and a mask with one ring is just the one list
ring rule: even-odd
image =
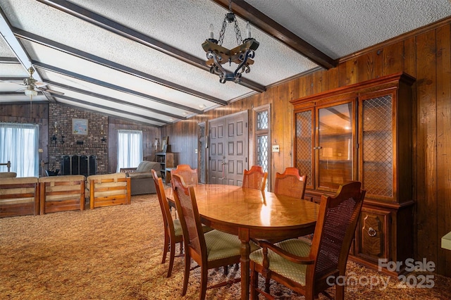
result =
[{"label": "wooden dining armchair with green seat, front right of table", "polygon": [[[357,181],[340,185],[335,196],[321,197],[319,215],[311,244],[304,239],[287,239],[271,244],[259,241],[262,249],[249,255],[251,268],[251,299],[269,294],[269,280],[275,280],[314,299],[335,285],[338,276],[346,272],[357,221],[362,210],[365,191]],[[264,289],[258,287],[258,276],[265,278]],[[330,298],[330,297],[329,297]],[[345,287],[335,285],[335,299],[345,298]]]}]

